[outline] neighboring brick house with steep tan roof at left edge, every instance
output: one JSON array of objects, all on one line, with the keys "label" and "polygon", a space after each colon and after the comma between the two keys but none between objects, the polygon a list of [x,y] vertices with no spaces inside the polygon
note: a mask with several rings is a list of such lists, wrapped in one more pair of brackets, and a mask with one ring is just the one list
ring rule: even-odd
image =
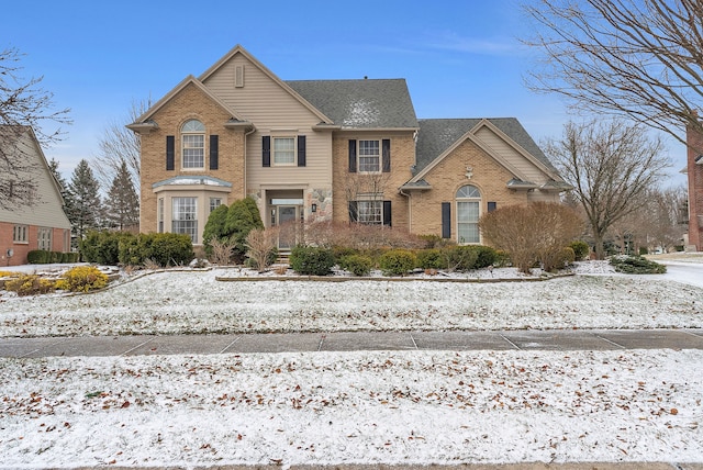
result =
[{"label": "neighboring brick house with steep tan roof at left edge", "polygon": [[[0,126],[0,145],[3,155],[21,161],[16,172],[0,176],[10,193],[0,204],[0,268],[26,264],[35,249],[69,251],[70,222],[34,131]],[[26,180],[33,181],[32,190],[22,184]]]}]

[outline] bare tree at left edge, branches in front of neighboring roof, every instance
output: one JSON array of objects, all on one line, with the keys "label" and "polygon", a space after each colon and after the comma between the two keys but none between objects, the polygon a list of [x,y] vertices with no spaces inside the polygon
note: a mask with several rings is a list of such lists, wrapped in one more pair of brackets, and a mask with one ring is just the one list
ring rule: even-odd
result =
[{"label": "bare tree at left edge, branches in front of neighboring roof", "polygon": [[[53,111],[54,94],[42,89],[43,77],[24,79],[20,76],[22,54],[15,48],[0,52],[0,209],[37,203],[37,164],[29,158],[30,147],[22,138],[31,127],[41,146],[60,141],[60,124],[69,124],[68,109]],[[54,131],[44,124],[57,124]],[[18,198],[35,194],[33,198]]]}]

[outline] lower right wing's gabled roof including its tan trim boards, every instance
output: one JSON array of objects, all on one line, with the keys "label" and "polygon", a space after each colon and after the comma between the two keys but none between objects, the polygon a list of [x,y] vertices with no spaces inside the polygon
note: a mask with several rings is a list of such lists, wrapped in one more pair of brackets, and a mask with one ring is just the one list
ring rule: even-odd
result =
[{"label": "lower right wing's gabled roof including its tan trim boards", "polygon": [[513,168],[509,161],[494,155],[490,148],[476,137],[475,133],[488,126],[501,138],[515,148],[525,158],[529,159],[537,167],[540,167],[550,178],[561,179],[551,161],[535,144],[527,131],[515,118],[492,118],[492,119],[431,119],[420,120],[420,133],[416,146],[415,177],[411,181],[416,181],[424,177],[431,167],[448,155],[456,146],[465,139],[471,139],[477,145],[492,154],[505,168],[507,168],[518,179],[524,177]]}]

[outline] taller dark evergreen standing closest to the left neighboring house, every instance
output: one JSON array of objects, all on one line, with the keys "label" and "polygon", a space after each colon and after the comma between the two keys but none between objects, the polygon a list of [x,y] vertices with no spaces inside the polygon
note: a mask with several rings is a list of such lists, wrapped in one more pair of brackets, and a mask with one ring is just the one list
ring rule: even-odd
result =
[{"label": "taller dark evergreen standing closest to the left neighboring house", "polygon": [[68,184],[66,215],[71,224],[75,240],[81,240],[90,230],[99,230],[102,217],[100,184],[88,166],[80,160]]}]

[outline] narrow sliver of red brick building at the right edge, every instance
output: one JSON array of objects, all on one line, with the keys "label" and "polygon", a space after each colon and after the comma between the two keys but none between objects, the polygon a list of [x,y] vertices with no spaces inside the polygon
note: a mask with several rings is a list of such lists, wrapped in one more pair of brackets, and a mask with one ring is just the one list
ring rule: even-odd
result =
[{"label": "narrow sliver of red brick building at the right edge", "polygon": [[687,130],[689,234],[687,250],[703,251],[703,135]]}]

